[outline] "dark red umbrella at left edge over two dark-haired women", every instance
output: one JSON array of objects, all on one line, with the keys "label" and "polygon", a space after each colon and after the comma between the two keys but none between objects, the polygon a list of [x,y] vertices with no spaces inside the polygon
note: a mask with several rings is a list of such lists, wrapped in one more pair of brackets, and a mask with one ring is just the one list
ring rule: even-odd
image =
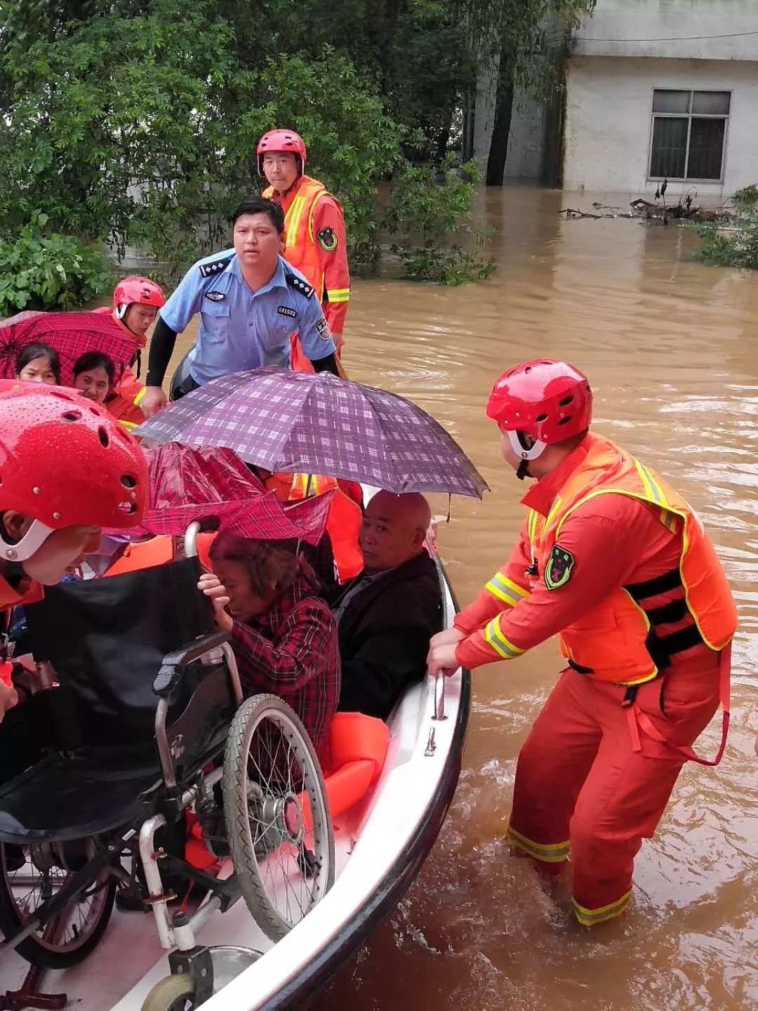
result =
[{"label": "dark red umbrella at left edge over two dark-haired women", "polygon": [[0,327],[0,378],[12,379],[16,359],[28,344],[49,344],[61,356],[61,383],[73,380],[74,363],[87,351],[107,355],[123,372],[139,350],[132,340],[110,316],[101,312],[41,312],[28,313],[5,320]]}]

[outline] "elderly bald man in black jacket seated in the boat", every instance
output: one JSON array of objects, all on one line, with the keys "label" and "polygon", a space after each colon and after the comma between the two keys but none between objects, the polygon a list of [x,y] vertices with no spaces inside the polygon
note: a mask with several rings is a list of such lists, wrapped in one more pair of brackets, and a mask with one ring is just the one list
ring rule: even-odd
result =
[{"label": "elderly bald man in black jacket seated in the boat", "polygon": [[386,720],[425,672],[430,636],[442,628],[442,589],[424,550],[423,495],[379,491],[363,517],[365,567],[337,599],[343,685],[340,710]]}]

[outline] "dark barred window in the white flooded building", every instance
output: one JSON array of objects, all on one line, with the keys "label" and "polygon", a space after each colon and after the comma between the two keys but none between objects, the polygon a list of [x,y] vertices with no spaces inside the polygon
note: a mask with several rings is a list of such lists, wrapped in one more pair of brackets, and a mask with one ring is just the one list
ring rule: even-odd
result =
[{"label": "dark barred window in the white flooded building", "polygon": [[731,100],[729,91],[656,88],[649,178],[721,180]]}]

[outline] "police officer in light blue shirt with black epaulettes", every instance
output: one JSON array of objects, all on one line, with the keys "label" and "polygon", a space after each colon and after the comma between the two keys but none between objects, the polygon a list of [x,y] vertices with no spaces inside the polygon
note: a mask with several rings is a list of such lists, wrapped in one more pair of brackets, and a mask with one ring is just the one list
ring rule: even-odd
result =
[{"label": "police officer in light blue shirt with black epaulettes", "polygon": [[197,341],[175,396],[230,372],[264,365],[288,368],[294,333],[316,372],[338,374],[336,348],[318,297],[281,256],[281,207],[251,197],[234,211],[231,226],[233,249],[198,260],[161,309],[139,404],[148,416],[166,403],[161,385],[176,336],[198,312]]}]

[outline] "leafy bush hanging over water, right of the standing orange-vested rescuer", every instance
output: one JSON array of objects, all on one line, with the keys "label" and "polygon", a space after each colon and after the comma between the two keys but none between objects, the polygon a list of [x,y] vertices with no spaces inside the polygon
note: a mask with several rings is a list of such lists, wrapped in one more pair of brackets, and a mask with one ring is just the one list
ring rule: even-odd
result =
[{"label": "leafy bush hanging over water, right of the standing orange-vested rescuer", "polygon": [[[489,277],[492,257],[483,257],[450,238],[469,235],[483,246],[491,229],[470,222],[471,202],[481,173],[473,162],[454,168],[448,155],[440,172],[430,165],[404,165],[391,189],[385,225],[400,236],[392,246],[411,281],[466,284]],[[414,241],[415,240],[415,241]],[[420,242],[418,241],[420,240]]]}]

